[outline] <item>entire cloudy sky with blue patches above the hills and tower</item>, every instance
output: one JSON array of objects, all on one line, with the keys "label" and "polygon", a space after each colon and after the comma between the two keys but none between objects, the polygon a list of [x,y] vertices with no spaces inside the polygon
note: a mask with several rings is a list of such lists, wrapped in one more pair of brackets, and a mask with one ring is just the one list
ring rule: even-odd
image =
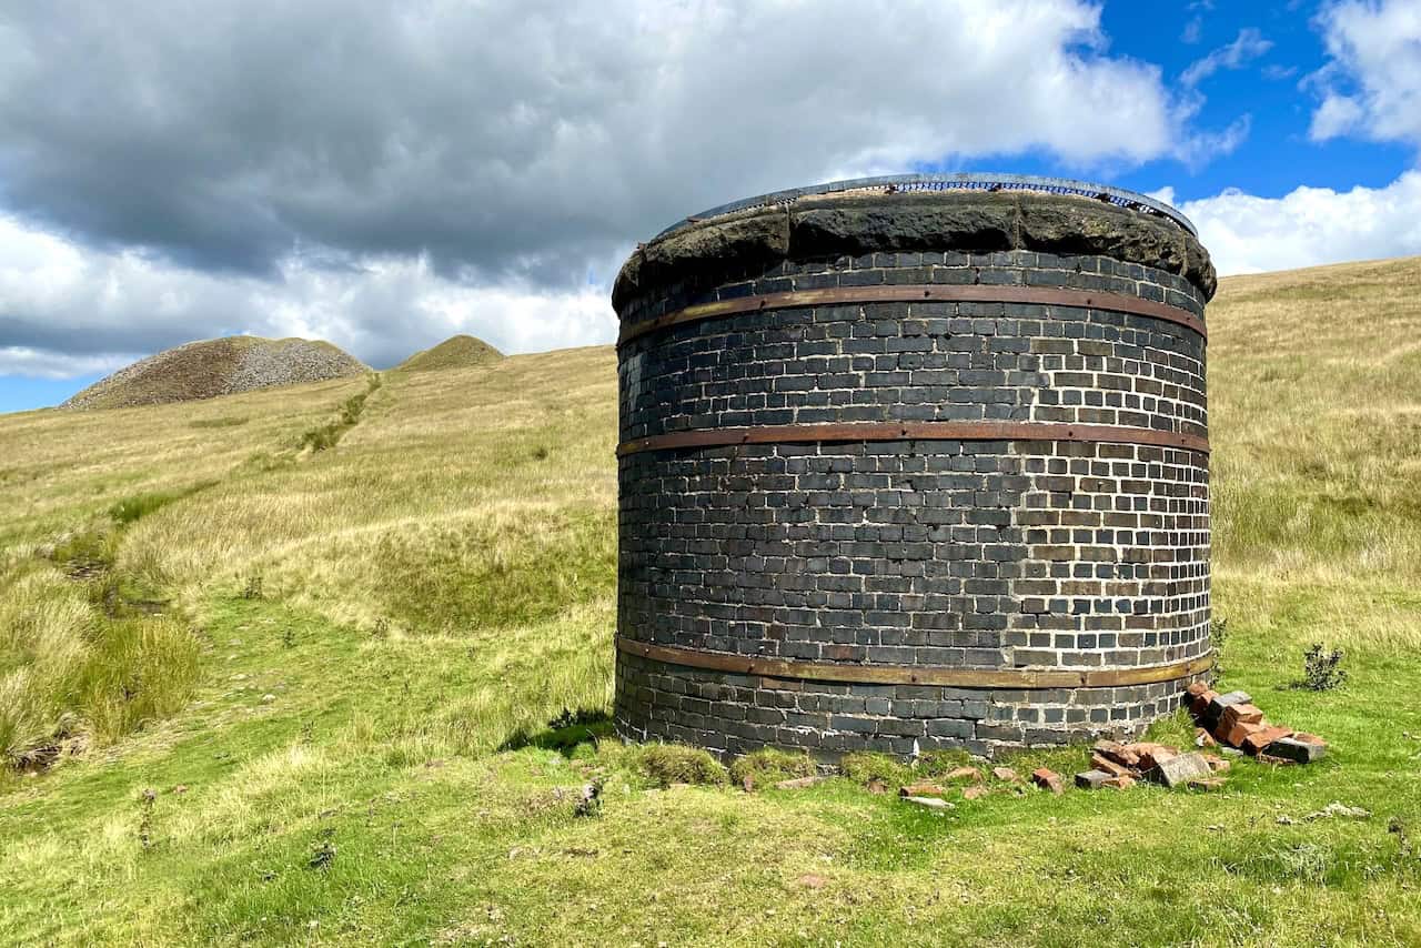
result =
[{"label": "entire cloudy sky with blue patches above the hills and tower", "polygon": [[1174,202],[1222,273],[1421,253],[1421,0],[9,0],[0,411],[233,333],[607,343],[637,240],[905,171]]}]

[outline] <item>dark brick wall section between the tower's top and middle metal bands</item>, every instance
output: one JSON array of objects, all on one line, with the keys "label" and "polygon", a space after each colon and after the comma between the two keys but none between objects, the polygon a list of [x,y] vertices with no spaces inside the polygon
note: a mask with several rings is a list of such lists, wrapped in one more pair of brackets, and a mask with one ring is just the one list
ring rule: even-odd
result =
[{"label": "dark brick wall section between the tower's top and middle metal bands", "polygon": [[[999,267],[988,276],[1009,283],[1005,277],[1022,273]],[[1138,286],[1130,281],[1128,289]],[[620,374],[622,441],[843,421],[1208,429],[1204,338],[1174,323],[1108,310],[1002,303],[769,310],[631,340],[621,350]]]}]

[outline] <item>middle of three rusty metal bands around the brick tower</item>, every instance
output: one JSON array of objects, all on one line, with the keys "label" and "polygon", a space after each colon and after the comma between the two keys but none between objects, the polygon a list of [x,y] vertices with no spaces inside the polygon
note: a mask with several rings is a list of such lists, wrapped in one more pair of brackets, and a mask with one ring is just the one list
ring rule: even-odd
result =
[{"label": "middle of three rusty metal bands around the brick tower", "polygon": [[1150,445],[1209,453],[1209,439],[1154,428],[1070,425],[1030,421],[914,421],[828,422],[811,425],[760,425],[709,428],[635,438],[617,445],[617,456],[675,448],[728,445],[787,445],[826,441],[1080,441],[1113,445]]}]

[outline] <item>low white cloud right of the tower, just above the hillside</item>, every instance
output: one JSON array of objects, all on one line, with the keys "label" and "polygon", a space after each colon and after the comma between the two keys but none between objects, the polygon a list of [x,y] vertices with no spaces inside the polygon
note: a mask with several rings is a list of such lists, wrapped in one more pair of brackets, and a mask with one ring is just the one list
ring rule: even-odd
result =
[{"label": "low white cloud right of the tower, just above the hillside", "polygon": [[[1155,193],[1174,203],[1174,190]],[[1421,172],[1385,188],[1297,188],[1282,198],[1236,189],[1177,205],[1222,276],[1421,254]]]}]

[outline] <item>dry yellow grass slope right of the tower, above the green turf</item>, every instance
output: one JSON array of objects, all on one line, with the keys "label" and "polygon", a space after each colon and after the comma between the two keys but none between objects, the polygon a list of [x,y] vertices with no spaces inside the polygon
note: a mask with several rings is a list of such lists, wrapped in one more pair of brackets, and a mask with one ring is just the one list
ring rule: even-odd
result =
[{"label": "dry yellow grass slope right of the tower, above the green turf", "polygon": [[1216,613],[1421,648],[1421,257],[1223,280],[1209,428]]}]

